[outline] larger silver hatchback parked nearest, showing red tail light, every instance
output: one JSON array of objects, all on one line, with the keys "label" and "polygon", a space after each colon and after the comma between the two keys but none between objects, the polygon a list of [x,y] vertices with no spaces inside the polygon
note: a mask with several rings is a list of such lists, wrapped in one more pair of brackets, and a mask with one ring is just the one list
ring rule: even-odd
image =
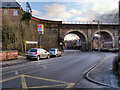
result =
[{"label": "larger silver hatchback parked nearest, showing red tail light", "polygon": [[26,53],[27,59],[37,59],[50,58],[50,53],[42,48],[32,48]]}]

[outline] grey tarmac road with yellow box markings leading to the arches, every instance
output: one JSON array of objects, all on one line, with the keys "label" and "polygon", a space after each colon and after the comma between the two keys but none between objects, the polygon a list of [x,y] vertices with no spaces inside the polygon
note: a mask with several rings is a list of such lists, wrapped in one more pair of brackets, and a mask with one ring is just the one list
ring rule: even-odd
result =
[{"label": "grey tarmac road with yellow box markings leading to the arches", "polygon": [[112,55],[103,52],[71,51],[61,57],[2,68],[2,88],[101,88],[85,80],[90,67],[102,58]]}]

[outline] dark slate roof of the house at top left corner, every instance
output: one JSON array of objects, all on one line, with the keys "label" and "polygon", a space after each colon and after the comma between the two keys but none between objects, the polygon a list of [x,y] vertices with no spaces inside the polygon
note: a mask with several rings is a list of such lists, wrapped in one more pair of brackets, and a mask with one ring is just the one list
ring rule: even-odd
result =
[{"label": "dark slate roof of the house at top left corner", "polygon": [[21,8],[18,2],[2,2],[2,8]]}]

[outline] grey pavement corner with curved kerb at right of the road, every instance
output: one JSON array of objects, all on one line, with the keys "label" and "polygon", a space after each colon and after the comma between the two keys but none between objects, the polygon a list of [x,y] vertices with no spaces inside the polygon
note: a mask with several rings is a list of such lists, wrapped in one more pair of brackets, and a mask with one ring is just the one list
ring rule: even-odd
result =
[{"label": "grey pavement corner with curved kerb at right of the road", "polygon": [[112,71],[114,57],[109,56],[108,58],[104,58],[100,64],[87,73],[87,79],[99,85],[120,89],[118,79]]}]

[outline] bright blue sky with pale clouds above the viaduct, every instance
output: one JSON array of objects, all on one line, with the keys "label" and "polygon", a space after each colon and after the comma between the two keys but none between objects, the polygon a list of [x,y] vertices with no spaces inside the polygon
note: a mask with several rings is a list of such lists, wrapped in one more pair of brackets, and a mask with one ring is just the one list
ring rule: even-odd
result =
[{"label": "bright blue sky with pale clouds above the viaduct", "polygon": [[[25,10],[28,1],[33,16],[62,21],[92,21],[96,16],[118,9],[119,0],[17,0]],[[44,1],[44,2],[43,2]],[[64,2],[65,1],[65,2]]]}]

